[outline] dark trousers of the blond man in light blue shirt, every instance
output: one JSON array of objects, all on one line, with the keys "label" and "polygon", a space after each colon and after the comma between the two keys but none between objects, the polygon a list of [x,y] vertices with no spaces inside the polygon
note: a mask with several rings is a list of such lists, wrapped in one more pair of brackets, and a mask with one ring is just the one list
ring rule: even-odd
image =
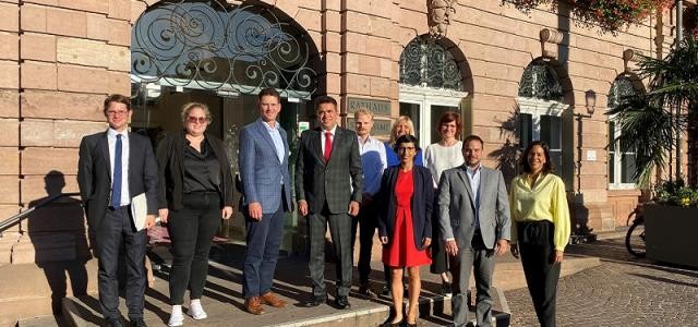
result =
[{"label": "dark trousers of the blond man in light blue shirt", "polygon": [[373,249],[373,235],[378,227],[378,217],[375,205],[370,202],[361,207],[359,216],[351,220],[351,249],[353,252],[357,242],[357,229],[359,230],[359,282],[369,286],[371,275],[371,250]]}]

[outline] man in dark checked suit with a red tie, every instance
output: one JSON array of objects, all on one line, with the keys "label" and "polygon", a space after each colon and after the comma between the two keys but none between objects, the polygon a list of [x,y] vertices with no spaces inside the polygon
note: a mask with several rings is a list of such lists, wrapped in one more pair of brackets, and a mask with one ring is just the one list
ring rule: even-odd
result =
[{"label": "man in dark checked suit with a red tie", "polygon": [[[296,161],[296,196],[301,215],[309,216],[310,275],[313,299],[309,306],[327,300],[325,290],[325,232],[329,222],[337,259],[335,305],[348,308],[351,287],[351,219],[359,214],[363,175],[357,133],[337,125],[337,101],[322,96],[315,101],[321,128],[301,134]],[[349,215],[347,215],[349,214]]]}]

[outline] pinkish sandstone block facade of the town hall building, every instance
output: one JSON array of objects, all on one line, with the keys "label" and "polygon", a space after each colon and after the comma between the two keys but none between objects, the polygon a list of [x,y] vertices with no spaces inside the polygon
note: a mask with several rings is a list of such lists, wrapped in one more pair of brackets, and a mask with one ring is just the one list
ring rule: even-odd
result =
[{"label": "pinkish sandstone block facade of the town hall building", "polygon": [[[527,15],[498,0],[459,0],[453,10],[435,13],[433,2],[448,1],[212,0],[201,2],[213,9],[202,13],[188,1],[0,0],[0,218],[45,197],[50,181],[62,185],[64,180],[62,192],[77,190],[77,146],[82,136],[106,128],[101,101],[109,93],[134,96],[134,126],[151,133],[154,142],[153,133],[178,128],[183,101],[207,101],[220,122],[213,129],[234,153],[236,129],[252,119],[255,89],[275,84],[251,81],[251,75],[233,83],[220,75],[226,66],[241,70],[268,61],[240,46],[240,51],[249,50],[242,65],[230,60],[222,65],[220,58],[233,58],[234,49],[183,63],[215,75],[207,84],[200,83],[206,80],[203,73],[141,71],[136,66],[143,61],[136,59],[142,53],[134,50],[143,45],[136,46],[134,28],[156,24],[156,19],[144,17],[161,10],[193,17],[188,23],[242,11],[252,20],[267,20],[262,24],[272,28],[263,31],[266,41],[278,35],[293,40],[304,61],[285,61],[293,70],[276,72],[277,77],[290,74],[279,89],[288,112],[281,123],[291,134],[312,126],[311,99],[322,94],[339,100],[348,125],[357,106],[376,110],[382,136],[392,119],[410,116],[422,146],[437,141],[433,129],[438,114],[456,110],[466,133],[483,137],[485,165],[513,177],[517,150],[531,140],[545,140],[555,150],[577,221],[595,231],[625,225],[640,192],[628,178],[631,154],[606,147],[613,129],[604,111],[617,94],[642,92],[641,81],[627,74],[634,65],[630,55],[664,56],[674,38],[672,13],[611,35],[576,24],[564,7],[558,13],[534,10]],[[445,14],[447,23],[438,20]],[[217,24],[214,29],[225,26],[228,36],[261,32]],[[198,28],[196,24],[172,26],[181,29],[161,28],[149,43],[195,39],[178,33]],[[430,26],[445,35],[432,38]],[[294,34],[285,34],[287,27]],[[233,43],[224,39],[217,41]],[[212,60],[206,64],[206,59]],[[305,68],[311,85],[298,77]],[[434,72],[437,76],[430,75]]]}]

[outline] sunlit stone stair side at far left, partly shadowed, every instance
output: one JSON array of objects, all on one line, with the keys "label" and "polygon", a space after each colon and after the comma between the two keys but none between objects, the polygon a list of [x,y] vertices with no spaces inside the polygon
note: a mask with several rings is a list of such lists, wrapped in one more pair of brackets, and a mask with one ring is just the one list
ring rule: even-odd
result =
[{"label": "sunlit stone stair side at far left, partly shadowed", "polygon": [[80,202],[37,208],[0,237],[0,327],[41,316],[57,324],[61,299],[96,292],[96,280]]}]

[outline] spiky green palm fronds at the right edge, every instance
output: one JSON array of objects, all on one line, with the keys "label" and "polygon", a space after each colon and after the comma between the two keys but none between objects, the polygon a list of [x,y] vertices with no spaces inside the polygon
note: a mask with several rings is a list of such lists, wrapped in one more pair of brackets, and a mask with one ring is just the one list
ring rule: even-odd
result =
[{"label": "spiky green palm fronds at the right edge", "polygon": [[[665,167],[667,155],[676,148],[674,135],[687,132],[688,184],[696,186],[698,41],[688,34],[665,58],[641,57],[638,66],[638,76],[650,78],[649,92],[623,98],[607,112],[621,128],[621,147],[637,154],[636,178],[647,186],[654,167]],[[682,112],[675,114],[679,106]]]}]

